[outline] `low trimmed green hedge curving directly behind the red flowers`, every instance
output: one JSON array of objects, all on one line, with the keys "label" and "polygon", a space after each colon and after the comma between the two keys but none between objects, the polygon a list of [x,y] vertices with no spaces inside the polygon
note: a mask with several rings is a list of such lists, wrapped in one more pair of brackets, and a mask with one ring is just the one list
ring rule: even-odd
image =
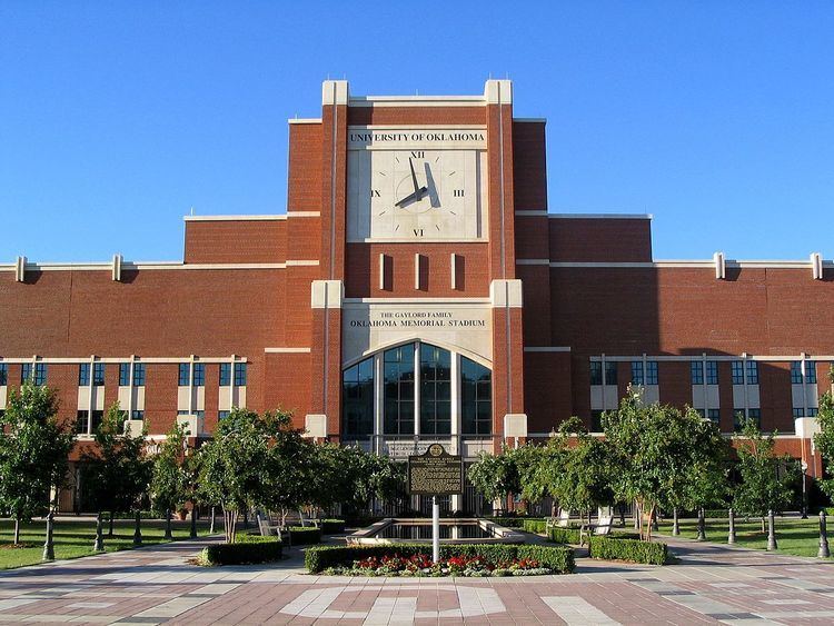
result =
[{"label": "low trimmed green hedge curving directly behind the red flowers", "polygon": [[[425,544],[396,544],[389,546],[314,546],[307,548],[304,563],[311,574],[328,567],[344,567],[371,556],[381,558],[386,555],[414,556],[431,555],[431,546]],[[449,544],[440,546],[440,557],[481,556],[492,562],[532,558],[542,567],[553,569],[556,574],[569,574],[576,568],[574,550],[563,546],[534,546],[527,544]]]}]

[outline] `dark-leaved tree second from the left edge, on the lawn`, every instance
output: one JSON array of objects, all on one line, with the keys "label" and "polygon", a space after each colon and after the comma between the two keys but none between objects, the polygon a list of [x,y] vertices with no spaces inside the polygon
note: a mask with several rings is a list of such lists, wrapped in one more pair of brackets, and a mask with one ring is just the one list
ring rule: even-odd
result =
[{"label": "dark-leaved tree second from the left edge, on the lawn", "polygon": [[110,511],[110,537],[113,513],[139,509],[152,474],[152,461],[145,454],[145,434],[125,433],[126,419],[127,413],[113,404],[96,429],[96,447],[82,457],[83,481],[93,506],[99,513]]}]

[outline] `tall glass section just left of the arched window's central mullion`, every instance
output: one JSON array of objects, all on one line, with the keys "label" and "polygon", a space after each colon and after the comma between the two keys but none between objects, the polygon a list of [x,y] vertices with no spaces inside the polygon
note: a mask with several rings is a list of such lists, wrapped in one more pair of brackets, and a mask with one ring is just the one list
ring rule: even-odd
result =
[{"label": "tall glass section just left of the arched window's central mullion", "polygon": [[386,435],[414,435],[414,344],[383,356]]}]

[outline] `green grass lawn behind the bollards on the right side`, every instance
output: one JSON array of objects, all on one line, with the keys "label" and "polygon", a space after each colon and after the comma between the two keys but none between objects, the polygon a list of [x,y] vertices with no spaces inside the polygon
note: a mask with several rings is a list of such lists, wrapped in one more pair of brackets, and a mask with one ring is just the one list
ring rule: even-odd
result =
[{"label": "green grass lawn behind the bollards on the right side", "polygon": [[[816,556],[816,550],[820,548],[820,521],[816,516],[811,516],[811,519],[776,517],[774,527],[778,552],[796,556]],[[830,531],[832,528],[832,526],[828,526]],[[708,541],[726,544],[728,530],[729,521],[726,519],[706,520],[706,538]],[[672,520],[661,524],[661,533],[664,535],[672,534]],[[735,534],[737,546],[759,550],[767,548],[767,531],[762,533],[761,519],[745,521],[744,518],[736,518]],[[689,539],[697,537],[697,520],[682,519],[681,536]],[[831,537],[830,541],[832,541],[832,550],[834,550],[834,537]]]}]

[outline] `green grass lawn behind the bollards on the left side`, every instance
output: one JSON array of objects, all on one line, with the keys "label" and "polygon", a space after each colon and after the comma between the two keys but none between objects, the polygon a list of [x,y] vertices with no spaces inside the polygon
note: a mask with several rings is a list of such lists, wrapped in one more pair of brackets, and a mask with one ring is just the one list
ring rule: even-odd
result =
[{"label": "green grass lawn behind the bollards on the left side", "polygon": [[[218,520],[216,530],[222,531],[222,520]],[[190,521],[171,521],[173,538],[187,539]],[[208,520],[198,521],[197,533],[208,534]],[[165,543],[165,521],[142,520],[142,541],[145,545]],[[107,552],[127,550],[133,547],[133,520],[116,519],[113,536],[108,537],[108,524],[105,523],[105,549]],[[22,524],[20,528],[21,546],[12,545],[14,523],[0,520],[0,569],[33,565],[41,562],[43,541],[46,539],[46,520],[36,519],[31,524]],[[78,558],[96,554],[92,544],[96,538],[96,523],[72,518],[56,518],[54,521],[54,556],[56,558]]]}]

